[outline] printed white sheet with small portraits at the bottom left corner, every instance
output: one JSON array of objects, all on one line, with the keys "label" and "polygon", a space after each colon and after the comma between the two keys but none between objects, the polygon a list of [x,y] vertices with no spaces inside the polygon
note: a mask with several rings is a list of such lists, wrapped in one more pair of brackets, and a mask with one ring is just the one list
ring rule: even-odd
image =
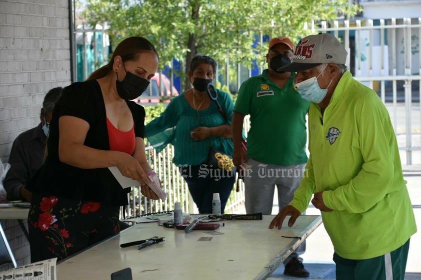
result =
[{"label": "printed white sheet with small portraits at the bottom left corner", "polygon": [[56,280],[57,258],[32,263],[0,272],[0,279]]}]

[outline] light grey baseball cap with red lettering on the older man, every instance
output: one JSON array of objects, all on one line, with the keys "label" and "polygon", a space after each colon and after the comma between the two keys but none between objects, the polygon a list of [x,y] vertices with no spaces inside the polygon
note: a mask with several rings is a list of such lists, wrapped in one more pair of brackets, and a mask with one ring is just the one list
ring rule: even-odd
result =
[{"label": "light grey baseball cap with red lettering on the older man", "polygon": [[345,64],[347,54],[334,36],[327,33],[309,35],[296,45],[292,62],[277,70],[299,72],[324,63]]}]

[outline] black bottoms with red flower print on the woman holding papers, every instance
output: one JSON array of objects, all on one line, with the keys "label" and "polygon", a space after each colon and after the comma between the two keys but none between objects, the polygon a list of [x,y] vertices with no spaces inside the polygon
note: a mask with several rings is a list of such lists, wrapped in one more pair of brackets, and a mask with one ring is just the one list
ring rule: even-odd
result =
[{"label": "black bottoms with red flower print on the woman holding papers", "polygon": [[31,262],[60,261],[119,233],[119,207],[32,194],[28,215]]}]

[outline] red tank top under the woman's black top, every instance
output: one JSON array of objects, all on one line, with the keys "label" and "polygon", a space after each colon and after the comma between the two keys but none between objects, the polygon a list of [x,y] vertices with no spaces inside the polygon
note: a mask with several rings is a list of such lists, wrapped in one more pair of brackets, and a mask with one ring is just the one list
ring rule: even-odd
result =
[{"label": "red tank top under the woman's black top", "polygon": [[129,131],[121,131],[106,118],[106,127],[108,129],[109,149],[132,155],[136,147],[134,124]]}]

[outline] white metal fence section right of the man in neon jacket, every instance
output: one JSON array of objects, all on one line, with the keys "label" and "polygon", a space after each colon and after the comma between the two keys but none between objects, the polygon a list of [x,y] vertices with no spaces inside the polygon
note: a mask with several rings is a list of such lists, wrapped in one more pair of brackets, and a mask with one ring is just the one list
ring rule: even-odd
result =
[{"label": "white metal fence section right of the man in neon jacket", "polygon": [[[398,137],[402,164],[421,160],[421,17],[321,22],[311,30],[330,32],[348,49],[354,78],[373,88],[386,104]],[[414,153],[415,152],[415,153]]]}]

